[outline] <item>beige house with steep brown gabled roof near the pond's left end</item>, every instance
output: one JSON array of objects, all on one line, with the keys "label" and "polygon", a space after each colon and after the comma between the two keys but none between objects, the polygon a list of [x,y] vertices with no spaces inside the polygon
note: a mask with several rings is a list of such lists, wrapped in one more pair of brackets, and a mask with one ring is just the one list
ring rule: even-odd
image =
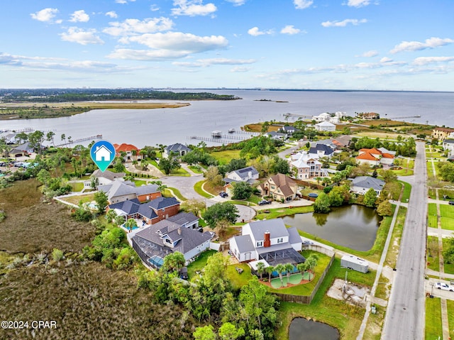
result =
[{"label": "beige house with steep brown gabled roof near the pond's left end", "polygon": [[258,186],[262,196],[270,196],[277,201],[289,201],[297,197],[298,185],[292,178],[278,173]]}]

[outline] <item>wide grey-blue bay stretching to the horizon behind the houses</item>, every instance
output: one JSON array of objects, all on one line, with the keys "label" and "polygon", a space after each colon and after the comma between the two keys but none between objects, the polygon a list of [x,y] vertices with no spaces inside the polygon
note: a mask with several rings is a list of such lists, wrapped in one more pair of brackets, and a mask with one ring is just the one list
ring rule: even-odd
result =
[{"label": "wide grey-blue bay stretching to the horizon behind the houses", "polygon": [[[211,131],[239,130],[245,124],[283,120],[285,113],[318,115],[322,112],[375,111],[383,117],[416,116],[416,123],[452,125],[454,93],[441,92],[326,92],[326,91],[211,91],[234,94],[235,101],[199,101],[179,109],[93,110],[55,119],[0,121],[2,129],[34,128],[55,131],[56,142],[65,133],[73,140],[102,134],[112,143],[132,143],[138,148],[157,143],[192,143],[189,136],[209,137]],[[257,99],[287,101],[259,102]],[[87,142],[88,143],[88,142]],[[85,143],[85,145],[87,145]],[[210,143],[209,143],[210,145]],[[212,144],[211,145],[219,145]]]}]

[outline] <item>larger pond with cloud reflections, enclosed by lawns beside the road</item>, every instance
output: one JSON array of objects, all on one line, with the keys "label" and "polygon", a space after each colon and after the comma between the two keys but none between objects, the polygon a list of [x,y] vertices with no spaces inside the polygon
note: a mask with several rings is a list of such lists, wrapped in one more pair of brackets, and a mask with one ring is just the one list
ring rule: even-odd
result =
[{"label": "larger pond with cloud reflections, enclosed by lawns beside the road", "polygon": [[368,251],[375,242],[380,216],[374,209],[351,205],[334,208],[329,214],[295,214],[284,223],[333,243]]}]

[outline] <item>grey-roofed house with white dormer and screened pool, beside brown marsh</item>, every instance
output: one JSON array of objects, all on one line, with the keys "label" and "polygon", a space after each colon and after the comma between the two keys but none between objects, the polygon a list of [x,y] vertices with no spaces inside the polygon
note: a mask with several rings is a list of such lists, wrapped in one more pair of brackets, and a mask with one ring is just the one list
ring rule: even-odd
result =
[{"label": "grey-roofed house with white dormer and screened pool, beside brown marsh", "polygon": [[165,256],[175,251],[182,253],[186,261],[198,256],[209,248],[212,237],[209,232],[201,233],[165,219],[135,233],[131,242],[144,263],[160,268]]}]

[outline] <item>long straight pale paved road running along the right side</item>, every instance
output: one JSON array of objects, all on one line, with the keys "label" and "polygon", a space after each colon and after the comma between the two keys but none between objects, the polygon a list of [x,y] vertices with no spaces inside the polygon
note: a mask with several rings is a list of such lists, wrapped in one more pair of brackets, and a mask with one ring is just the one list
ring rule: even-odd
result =
[{"label": "long straight pale paved road running along the right side", "polygon": [[424,339],[424,269],[426,251],[426,155],[416,143],[414,183],[400,245],[397,272],[392,284],[382,339]]}]

